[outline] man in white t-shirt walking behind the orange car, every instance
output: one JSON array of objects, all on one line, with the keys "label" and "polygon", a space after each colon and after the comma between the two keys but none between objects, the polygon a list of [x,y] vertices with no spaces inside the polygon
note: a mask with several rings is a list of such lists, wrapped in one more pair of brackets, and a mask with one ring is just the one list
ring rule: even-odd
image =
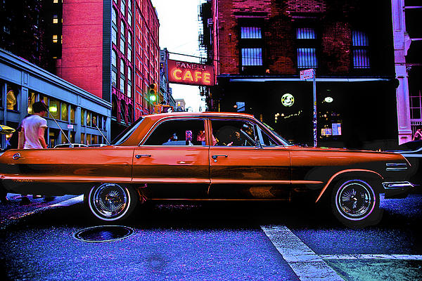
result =
[{"label": "man in white t-shirt walking behind the orange car", "polygon": [[[23,149],[47,148],[44,133],[47,128],[46,105],[41,102],[32,105],[33,115],[26,117],[22,121],[22,131],[24,136]],[[21,144],[22,141],[19,141]],[[22,147],[20,147],[22,148]]]}]

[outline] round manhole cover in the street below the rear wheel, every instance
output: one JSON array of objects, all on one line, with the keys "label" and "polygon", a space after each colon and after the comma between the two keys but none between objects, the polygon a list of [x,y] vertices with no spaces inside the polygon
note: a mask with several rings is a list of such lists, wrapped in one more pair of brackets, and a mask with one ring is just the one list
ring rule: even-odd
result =
[{"label": "round manhole cover in the street below the rear wheel", "polygon": [[93,226],[79,230],[73,237],[84,242],[108,242],[126,238],[132,233],[134,230],[127,226]]}]

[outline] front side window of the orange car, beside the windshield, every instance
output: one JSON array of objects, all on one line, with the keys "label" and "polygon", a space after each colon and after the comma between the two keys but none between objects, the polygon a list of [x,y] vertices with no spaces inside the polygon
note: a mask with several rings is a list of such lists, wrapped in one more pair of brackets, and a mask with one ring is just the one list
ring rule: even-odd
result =
[{"label": "front side window of the orange car, beside the windshield", "polygon": [[215,145],[255,146],[255,126],[248,121],[214,119],[211,126]]}]

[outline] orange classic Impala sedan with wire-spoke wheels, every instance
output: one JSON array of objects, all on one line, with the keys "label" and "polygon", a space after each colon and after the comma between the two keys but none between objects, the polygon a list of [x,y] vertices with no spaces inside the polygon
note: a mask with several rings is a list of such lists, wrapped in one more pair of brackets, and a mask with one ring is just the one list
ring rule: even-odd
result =
[{"label": "orange classic Impala sedan with wire-spoke wheels", "polygon": [[99,148],[8,150],[0,183],[23,194],[84,194],[104,221],[126,218],[145,200],[291,200],[308,192],[345,225],[362,227],[381,219],[380,193],[407,196],[407,169],[396,153],[290,145],[252,115],[174,112],[144,116]]}]

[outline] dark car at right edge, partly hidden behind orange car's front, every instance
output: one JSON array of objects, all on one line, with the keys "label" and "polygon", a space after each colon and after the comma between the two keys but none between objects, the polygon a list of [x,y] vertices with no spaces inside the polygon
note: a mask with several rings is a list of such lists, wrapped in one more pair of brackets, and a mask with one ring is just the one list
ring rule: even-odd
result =
[{"label": "dark car at right edge, partly hidden behind orange car's front", "polygon": [[409,181],[416,185],[422,185],[422,141],[409,141],[402,143],[395,150],[403,155],[411,164],[409,169]]}]

